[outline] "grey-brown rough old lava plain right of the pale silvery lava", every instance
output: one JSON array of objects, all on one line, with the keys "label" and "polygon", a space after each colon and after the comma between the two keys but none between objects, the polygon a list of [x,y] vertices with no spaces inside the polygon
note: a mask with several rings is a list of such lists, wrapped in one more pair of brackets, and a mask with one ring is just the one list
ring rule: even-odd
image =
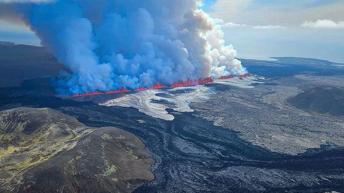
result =
[{"label": "grey-brown rough old lava plain right of the pale silvery lava", "polygon": [[[323,81],[327,79],[323,77]],[[271,151],[297,155],[325,144],[343,147],[343,119],[301,111],[286,102],[302,92],[303,84],[310,86],[301,79],[292,86],[293,81],[273,79],[251,89],[218,85],[217,95],[206,103],[192,103],[192,107],[198,116],[233,129],[241,138]]]}]

